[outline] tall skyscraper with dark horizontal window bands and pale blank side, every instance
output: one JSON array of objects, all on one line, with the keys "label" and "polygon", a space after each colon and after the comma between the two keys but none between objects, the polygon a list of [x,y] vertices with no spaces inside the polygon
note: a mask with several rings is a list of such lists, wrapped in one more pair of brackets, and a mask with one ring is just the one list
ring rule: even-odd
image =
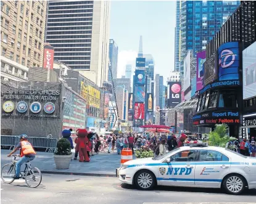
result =
[{"label": "tall skyscraper with dark horizontal window bands and pale blank side", "polygon": [[54,60],[102,87],[109,71],[110,1],[48,1],[46,42]]}]

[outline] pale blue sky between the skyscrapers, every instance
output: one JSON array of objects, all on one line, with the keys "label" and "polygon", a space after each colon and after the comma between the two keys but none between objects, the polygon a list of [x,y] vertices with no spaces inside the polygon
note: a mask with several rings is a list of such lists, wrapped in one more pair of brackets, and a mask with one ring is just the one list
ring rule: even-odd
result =
[{"label": "pale blue sky between the skyscrapers", "polygon": [[135,60],[142,35],[143,54],[152,54],[155,74],[165,84],[174,70],[175,1],[111,1],[110,39],[118,46],[117,76],[125,75],[125,65]]}]

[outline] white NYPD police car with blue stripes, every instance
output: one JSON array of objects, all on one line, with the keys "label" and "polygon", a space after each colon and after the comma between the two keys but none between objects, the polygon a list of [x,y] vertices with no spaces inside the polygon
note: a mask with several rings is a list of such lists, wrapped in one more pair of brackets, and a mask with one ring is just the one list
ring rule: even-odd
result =
[{"label": "white NYPD police car with blue stripes", "polygon": [[256,188],[256,158],[221,147],[185,146],[163,156],[127,161],[119,180],[149,190],[155,185],[221,188],[241,194]]}]

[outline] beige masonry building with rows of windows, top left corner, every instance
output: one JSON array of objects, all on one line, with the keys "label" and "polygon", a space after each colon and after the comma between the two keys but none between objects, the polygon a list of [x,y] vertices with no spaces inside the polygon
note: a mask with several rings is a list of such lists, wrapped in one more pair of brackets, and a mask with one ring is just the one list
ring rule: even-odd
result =
[{"label": "beige masonry building with rows of windows, top left corner", "polygon": [[46,1],[1,1],[1,81],[27,81],[43,66]]}]

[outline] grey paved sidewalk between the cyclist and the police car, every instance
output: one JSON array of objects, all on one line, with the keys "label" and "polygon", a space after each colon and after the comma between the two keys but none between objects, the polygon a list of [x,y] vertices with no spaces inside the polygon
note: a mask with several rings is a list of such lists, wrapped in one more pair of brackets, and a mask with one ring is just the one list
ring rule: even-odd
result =
[{"label": "grey paved sidewalk between the cyclist and the police car", "polygon": [[[9,152],[10,150],[1,150],[1,166],[11,161],[11,158],[7,157]],[[115,171],[120,167],[121,158],[117,153],[99,153],[91,157],[91,161],[88,163],[72,160],[69,169],[56,169],[53,156],[53,153],[36,152],[36,158],[31,163],[42,173],[115,177]]]}]

